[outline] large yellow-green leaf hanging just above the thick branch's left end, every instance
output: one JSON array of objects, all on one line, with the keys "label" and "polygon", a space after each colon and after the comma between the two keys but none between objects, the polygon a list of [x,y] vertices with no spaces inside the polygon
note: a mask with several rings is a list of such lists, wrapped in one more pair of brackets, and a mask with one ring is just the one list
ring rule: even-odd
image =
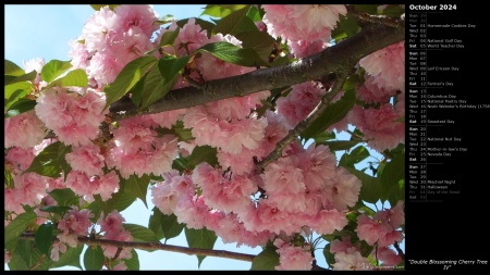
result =
[{"label": "large yellow-green leaf hanging just above the thick branch's left end", "polygon": [[140,57],[127,63],[115,80],[103,87],[107,96],[105,110],[126,95],[155,63],[157,63],[157,58],[151,55]]}]

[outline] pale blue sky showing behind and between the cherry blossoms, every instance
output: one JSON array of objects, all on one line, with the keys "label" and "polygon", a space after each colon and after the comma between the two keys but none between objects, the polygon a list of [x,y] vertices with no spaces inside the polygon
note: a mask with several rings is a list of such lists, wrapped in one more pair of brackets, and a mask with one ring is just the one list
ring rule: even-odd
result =
[{"label": "pale blue sky showing behind and between the cherry blossoms", "polygon": [[[205,5],[172,4],[154,5],[158,15],[173,15],[176,20],[199,16]],[[57,59],[70,60],[69,41],[77,38],[82,28],[94,13],[89,4],[38,4],[38,5],[4,5],[4,58],[23,67],[23,61],[34,58],[44,58],[46,62]],[[206,18],[206,17],[204,17]],[[372,159],[371,159],[372,161]],[[126,223],[147,226],[148,218],[154,208],[150,192],[148,191],[148,209],[140,200],[123,211]],[[380,208],[380,205],[378,205]],[[185,236],[170,239],[168,245],[187,247]],[[321,247],[326,242],[321,243]],[[403,243],[404,245],[404,243]],[[404,248],[404,246],[403,246]],[[220,239],[215,249],[257,254],[260,248],[236,248],[235,243],[223,245]],[[175,252],[155,251],[146,252],[137,250],[140,270],[197,270],[197,258]],[[317,261],[320,266],[327,266],[321,250],[317,250]],[[83,264],[83,261],[82,261]],[[249,270],[250,262],[206,258],[200,270]],[[8,268],[5,264],[5,270]],[[57,270],[77,270],[75,267],[62,267]]]}]

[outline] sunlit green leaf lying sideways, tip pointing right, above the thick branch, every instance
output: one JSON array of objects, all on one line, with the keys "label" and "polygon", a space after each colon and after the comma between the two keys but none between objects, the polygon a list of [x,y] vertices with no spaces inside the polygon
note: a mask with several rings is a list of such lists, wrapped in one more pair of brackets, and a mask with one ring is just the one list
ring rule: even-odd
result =
[{"label": "sunlit green leaf lying sideways, tip pointing right, above the thick branch", "polygon": [[242,66],[269,66],[254,49],[238,48],[230,42],[207,43],[196,51],[207,51],[220,60]]}]

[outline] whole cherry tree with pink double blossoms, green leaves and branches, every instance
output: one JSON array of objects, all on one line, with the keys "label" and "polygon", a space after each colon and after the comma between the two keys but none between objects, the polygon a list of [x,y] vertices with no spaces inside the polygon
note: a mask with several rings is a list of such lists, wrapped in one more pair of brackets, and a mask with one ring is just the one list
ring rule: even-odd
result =
[{"label": "whole cherry tree with pink double blossoms, green leaves and branches", "polygon": [[404,5],[91,7],[70,61],[4,61],[10,270],[138,270],[135,249],[403,268]]}]

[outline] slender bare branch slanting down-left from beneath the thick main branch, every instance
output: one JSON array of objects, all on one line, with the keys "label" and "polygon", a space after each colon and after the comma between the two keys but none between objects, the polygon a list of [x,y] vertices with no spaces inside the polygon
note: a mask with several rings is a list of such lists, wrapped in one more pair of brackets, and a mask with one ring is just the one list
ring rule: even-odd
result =
[{"label": "slender bare branch slanting down-left from beneath the thick main branch", "polygon": [[281,139],[275,145],[275,149],[269,153],[264,160],[257,163],[256,173],[260,174],[264,172],[264,168],[270,163],[274,162],[282,155],[282,150],[291,142],[293,142],[314,121],[316,121],[320,115],[327,110],[327,108],[332,102],[333,98],[342,90],[345,79],[347,79],[347,74],[343,73],[343,75],[338,76],[332,88],[329,92],[327,92],[322,98],[320,103],[308,114],[308,116],[299,122],[296,127],[290,130],[287,135]]}]

